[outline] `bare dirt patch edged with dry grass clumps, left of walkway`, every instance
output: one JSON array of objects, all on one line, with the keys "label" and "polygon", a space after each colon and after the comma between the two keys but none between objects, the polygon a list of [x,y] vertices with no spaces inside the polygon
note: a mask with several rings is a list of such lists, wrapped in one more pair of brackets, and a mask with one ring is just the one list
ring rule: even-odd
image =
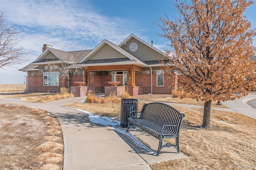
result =
[{"label": "bare dirt patch edged with dry grass clumps, left of walkway", "polygon": [[60,123],[46,111],[23,105],[0,105],[0,169],[62,170]]}]

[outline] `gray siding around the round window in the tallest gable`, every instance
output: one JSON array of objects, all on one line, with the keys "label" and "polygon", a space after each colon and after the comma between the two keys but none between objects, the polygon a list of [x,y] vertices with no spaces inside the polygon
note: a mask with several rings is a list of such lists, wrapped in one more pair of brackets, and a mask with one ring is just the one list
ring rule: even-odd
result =
[{"label": "gray siding around the round window in the tallest gable", "polygon": [[[132,43],[136,43],[138,45],[137,50],[134,52],[130,50],[130,45]],[[162,57],[162,54],[158,53],[154,49],[151,49],[150,47],[148,47],[147,45],[138,41],[135,38],[132,38],[131,40],[126,42],[126,46],[127,47],[125,47],[125,45],[122,45],[122,49],[128,51],[129,53],[131,53],[132,55],[134,55],[135,57],[137,57],[142,61],[153,61],[153,60],[157,60],[156,56]]]}]

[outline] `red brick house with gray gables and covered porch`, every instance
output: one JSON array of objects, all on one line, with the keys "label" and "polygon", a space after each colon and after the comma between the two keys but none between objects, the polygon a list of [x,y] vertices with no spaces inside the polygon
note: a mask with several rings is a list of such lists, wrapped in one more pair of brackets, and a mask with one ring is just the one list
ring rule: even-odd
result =
[{"label": "red brick house with gray gables and covered porch", "polygon": [[158,58],[164,59],[162,51],[131,34],[119,45],[103,40],[84,51],[60,51],[44,44],[42,54],[19,71],[28,73],[28,91],[57,92],[67,87],[68,80],[61,78],[60,69],[71,65],[75,71],[70,74],[70,86],[81,81],[88,89],[104,92],[111,86],[108,81],[119,81],[118,86],[126,87],[130,95],[171,94],[177,82],[164,74]]}]

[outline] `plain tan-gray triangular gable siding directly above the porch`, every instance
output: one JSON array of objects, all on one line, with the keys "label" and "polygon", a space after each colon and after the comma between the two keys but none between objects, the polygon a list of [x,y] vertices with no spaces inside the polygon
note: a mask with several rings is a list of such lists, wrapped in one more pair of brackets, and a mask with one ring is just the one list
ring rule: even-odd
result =
[{"label": "plain tan-gray triangular gable siding directly above the porch", "polygon": [[96,60],[96,59],[115,59],[115,58],[127,58],[119,51],[116,51],[113,47],[108,44],[105,44],[103,47],[99,49],[92,57],[88,60]]}]

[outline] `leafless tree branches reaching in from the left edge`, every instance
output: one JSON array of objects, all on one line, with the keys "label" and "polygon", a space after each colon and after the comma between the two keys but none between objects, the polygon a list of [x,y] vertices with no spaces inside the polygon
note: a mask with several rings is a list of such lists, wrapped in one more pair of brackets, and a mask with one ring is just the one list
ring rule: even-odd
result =
[{"label": "leafless tree branches reaching in from the left edge", "polygon": [[6,23],[6,13],[0,12],[0,68],[27,61],[23,47],[16,47],[22,40],[19,35],[24,30],[16,30]]}]

